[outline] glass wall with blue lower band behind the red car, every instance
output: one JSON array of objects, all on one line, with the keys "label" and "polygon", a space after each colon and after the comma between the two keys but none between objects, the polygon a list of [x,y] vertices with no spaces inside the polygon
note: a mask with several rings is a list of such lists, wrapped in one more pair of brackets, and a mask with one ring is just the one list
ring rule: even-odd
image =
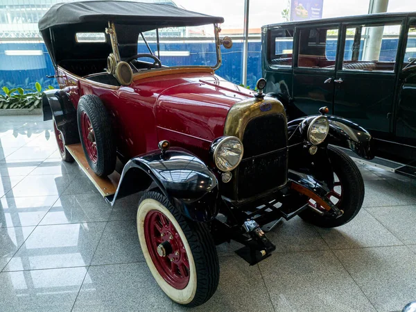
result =
[{"label": "glass wall with blue lower band behind the red car", "polygon": [[[209,3],[187,0],[140,0],[142,2],[164,3],[167,5],[179,6],[187,10],[195,10],[200,13],[219,15],[216,8],[209,6]],[[58,88],[55,79],[46,78],[53,75],[54,69],[37,29],[37,22],[54,4],[62,0],[3,0],[0,3],[0,88],[21,87],[34,89],[35,83],[39,82],[43,88],[53,85]],[[66,0],[66,2],[72,2]],[[218,1],[217,1],[218,2]],[[223,65],[216,72],[219,76],[234,83],[241,83],[241,60],[243,56],[243,4],[224,3],[222,12],[229,6],[229,18],[225,16],[225,23],[221,36],[229,35],[234,40],[232,49],[222,49]],[[161,35],[163,35],[161,33]],[[165,34],[169,35],[169,34]],[[200,45],[211,39],[211,33],[205,32],[201,27],[193,29],[184,35],[184,40],[175,44],[175,51],[182,51],[181,54],[165,54],[162,56],[164,62],[174,65],[180,62],[198,62],[194,52],[200,50]],[[162,36],[163,37],[163,36]],[[163,39],[161,37],[161,39]],[[139,51],[143,50],[143,42],[138,42]],[[248,85],[254,87],[255,82],[261,76],[261,42],[260,31],[250,38],[248,61]],[[187,59],[189,58],[189,59]],[[195,64],[200,65],[200,64]]]}]

